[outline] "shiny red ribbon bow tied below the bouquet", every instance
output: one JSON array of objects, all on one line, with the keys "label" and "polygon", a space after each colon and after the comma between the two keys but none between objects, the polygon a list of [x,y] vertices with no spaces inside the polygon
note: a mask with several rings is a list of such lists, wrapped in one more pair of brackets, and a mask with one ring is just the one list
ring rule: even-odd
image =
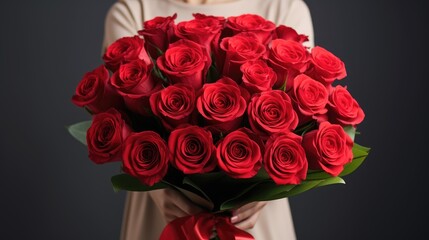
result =
[{"label": "shiny red ribbon bow tied below the bouquet", "polygon": [[254,240],[253,236],[236,228],[229,217],[201,213],[178,218],[162,231],[160,240],[209,240],[216,229],[221,240]]}]

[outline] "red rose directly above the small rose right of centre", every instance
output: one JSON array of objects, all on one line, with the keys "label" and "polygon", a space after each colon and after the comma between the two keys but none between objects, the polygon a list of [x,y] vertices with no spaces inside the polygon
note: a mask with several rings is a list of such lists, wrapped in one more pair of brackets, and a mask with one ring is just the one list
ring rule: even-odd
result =
[{"label": "red rose directly above the small rose right of centre", "polygon": [[266,52],[265,46],[259,42],[256,35],[253,33],[240,33],[233,37],[222,39],[220,47],[225,51],[223,59],[223,75],[232,78],[237,83],[241,83],[242,64],[248,61],[256,61],[260,59]]}]

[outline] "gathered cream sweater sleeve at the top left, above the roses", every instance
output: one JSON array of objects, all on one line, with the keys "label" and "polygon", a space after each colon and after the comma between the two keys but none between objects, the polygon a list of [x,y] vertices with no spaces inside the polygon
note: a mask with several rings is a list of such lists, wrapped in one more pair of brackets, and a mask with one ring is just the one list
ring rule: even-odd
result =
[{"label": "gathered cream sweater sleeve at the top left, above the roses", "polygon": [[134,36],[142,26],[141,2],[121,0],[113,4],[104,20],[102,54],[119,38]]}]

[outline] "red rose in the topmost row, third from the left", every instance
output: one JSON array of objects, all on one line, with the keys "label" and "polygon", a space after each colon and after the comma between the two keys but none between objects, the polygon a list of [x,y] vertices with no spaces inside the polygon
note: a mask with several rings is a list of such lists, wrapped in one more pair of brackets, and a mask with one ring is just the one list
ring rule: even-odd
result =
[{"label": "red rose in the topmost row, third from the left", "polygon": [[276,25],[273,22],[255,14],[229,17],[226,27],[231,29],[234,35],[241,32],[255,33],[259,41],[264,45],[271,40],[273,31],[276,29]]}]

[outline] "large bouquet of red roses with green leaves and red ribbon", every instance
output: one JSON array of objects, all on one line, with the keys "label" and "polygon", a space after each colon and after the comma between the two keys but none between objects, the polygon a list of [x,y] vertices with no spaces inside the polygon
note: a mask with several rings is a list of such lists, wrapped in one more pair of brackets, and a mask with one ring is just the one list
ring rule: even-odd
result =
[{"label": "large bouquet of red roses with green leaves and red ribbon", "polygon": [[[69,131],[93,162],[122,163],[116,190],[172,187],[222,212],[344,183],[364,161],[364,112],[334,85],[346,77],[338,57],[257,15],[175,18],[112,43],[73,95],[93,118]],[[163,236],[201,219],[221,239],[245,235],[215,216],[173,221]]]}]

